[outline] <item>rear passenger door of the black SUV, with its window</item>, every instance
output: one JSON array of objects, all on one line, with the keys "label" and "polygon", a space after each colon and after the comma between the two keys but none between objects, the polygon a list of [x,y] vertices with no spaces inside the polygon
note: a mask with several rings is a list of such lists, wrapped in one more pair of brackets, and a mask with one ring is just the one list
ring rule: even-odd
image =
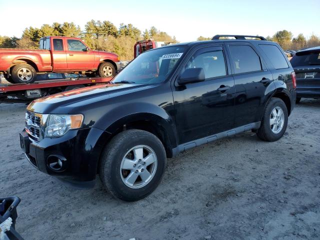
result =
[{"label": "rear passenger door of the black SUV, with its window", "polygon": [[234,127],[260,121],[266,88],[272,73],[258,50],[249,42],[227,42],[235,84]]}]

